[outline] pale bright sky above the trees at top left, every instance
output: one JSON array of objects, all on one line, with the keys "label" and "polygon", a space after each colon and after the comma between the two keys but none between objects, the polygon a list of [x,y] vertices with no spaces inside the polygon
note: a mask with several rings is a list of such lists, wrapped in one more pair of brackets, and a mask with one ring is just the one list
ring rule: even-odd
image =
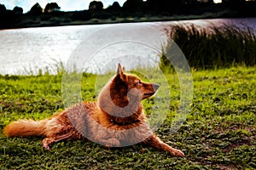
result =
[{"label": "pale bright sky above the trees at top left", "polygon": [[[61,7],[61,11],[74,11],[88,9],[91,1],[93,0],[0,0],[0,3],[4,4],[5,8],[11,10],[15,8],[15,6],[19,6],[23,8],[23,12],[26,13],[36,3],[39,3],[42,8],[44,8],[47,3],[58,3]],[[104,8],[107,8],[115,1],[119,2],[120,6],[122,6],[126,0],[102,0],[102,3]]]}]

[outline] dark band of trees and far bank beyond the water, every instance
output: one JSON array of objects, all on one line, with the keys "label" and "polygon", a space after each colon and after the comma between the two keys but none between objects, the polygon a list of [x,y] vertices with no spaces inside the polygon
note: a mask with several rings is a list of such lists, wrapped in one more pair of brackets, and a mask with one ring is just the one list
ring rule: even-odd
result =
[{"label": "dark band of trees and far bank beyond the water", "polygon": [[[81,11],[61,11],[57,3],[48,3],[44,8],[36,3],[24,14],[20,7],[12,10],[0,4],[0,29],[27,26],[63,26],[80,21],[111,20],[120,22],[119,18],[146,18],[212,14],[214,17],[248,17],[256,16],[256,0],[127,0],[122,6],[114,2],[103,8],[101,1],[90,2],[89,7]],[[125,22],[125,20],[122,20]]]}]

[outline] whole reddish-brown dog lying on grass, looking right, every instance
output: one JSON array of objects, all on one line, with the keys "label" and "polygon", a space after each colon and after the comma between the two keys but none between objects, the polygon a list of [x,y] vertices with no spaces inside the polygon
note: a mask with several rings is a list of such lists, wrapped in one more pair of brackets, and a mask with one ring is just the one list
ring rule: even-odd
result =
[{"label": "whole reddish-brown dog lying on grass, looking right", "polygon": [[181,150],[161,141],[147,123],[142,100],[153,96],[158,88],[157,84],[126,73],[119,64],[97,101],[80,102],[40,121],[11,122],[3,133],[10,138],[44,136],[42,145],[47,150],[56,142],[84,139],[107,147],[146,144],[172,156],[184,156]]}]

